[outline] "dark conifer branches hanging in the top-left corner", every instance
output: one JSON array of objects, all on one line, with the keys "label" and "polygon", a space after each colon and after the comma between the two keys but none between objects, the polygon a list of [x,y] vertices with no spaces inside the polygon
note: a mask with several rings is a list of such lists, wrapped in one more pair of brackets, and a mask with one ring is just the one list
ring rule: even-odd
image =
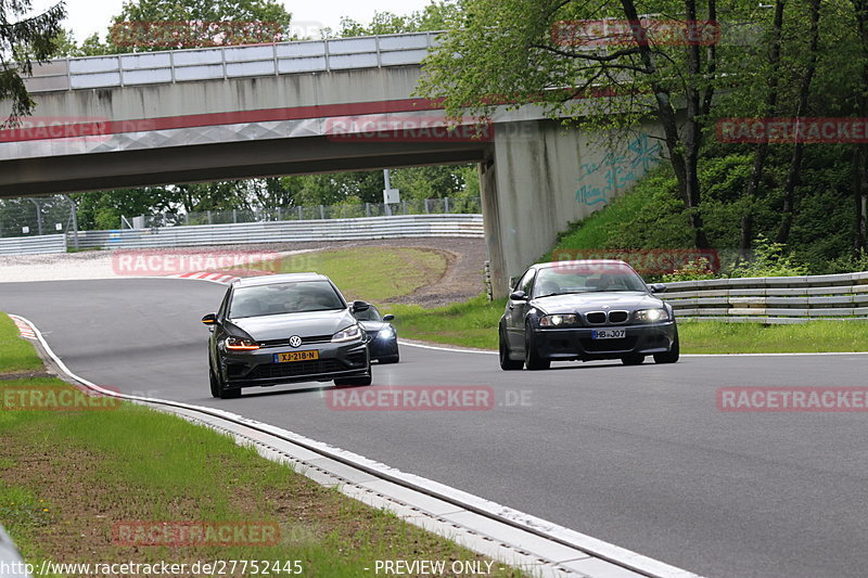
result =
[{"label": "dark conifer branches hanging in the top-left corner", "polygon": [[35,16],[29,15],[31,7],[30,0],[0,0],[0,101],[9,101],[0,112],[0,126],[33,113],[36,104],[22,75],[33,72],[34,62],[46,62],[56,52],[54,39],[66,17],[63,2]]}]

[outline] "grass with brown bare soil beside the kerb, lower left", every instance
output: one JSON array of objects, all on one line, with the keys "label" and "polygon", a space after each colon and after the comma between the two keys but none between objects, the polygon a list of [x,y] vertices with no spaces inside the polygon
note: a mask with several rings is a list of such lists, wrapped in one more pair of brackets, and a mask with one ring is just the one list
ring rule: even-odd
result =
[{"label": "grass with brown bare soil beside the kerb, lower left", "polygon": [[[47,394],[78,390],[55,378],[10,378],[41,367],[16,335],[0,314],[0,344],[17,351],[0,361],[0,521],[31,563],[297,560],[305,576],[353,577],[369,576],[375,560],[484,560],[179,418],[126,402],[101,411],[49,404]],[[21,391],[36,390],[42,403],[11,409]],[[135,521],[279,530],[273,544],[120,543],[117,525]]]}]

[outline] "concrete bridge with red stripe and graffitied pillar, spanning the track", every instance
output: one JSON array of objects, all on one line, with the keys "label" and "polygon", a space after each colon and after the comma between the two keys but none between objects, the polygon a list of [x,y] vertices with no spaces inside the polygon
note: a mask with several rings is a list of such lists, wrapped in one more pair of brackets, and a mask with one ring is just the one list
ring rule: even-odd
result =
[{"label": "concrete bridge with red stripe and graffitied pillar, spanning the track", "polygon": [[[478,163],[494,291],[567,222],[656,162],[640,127],[622,150],[533,106],[493,130],[442,130],[413,97],[436,35],[410,34],[67,59],[34,70],[37,102],[0,131],[0,196]],[[3,107],[0,106],[0,111]]]}]

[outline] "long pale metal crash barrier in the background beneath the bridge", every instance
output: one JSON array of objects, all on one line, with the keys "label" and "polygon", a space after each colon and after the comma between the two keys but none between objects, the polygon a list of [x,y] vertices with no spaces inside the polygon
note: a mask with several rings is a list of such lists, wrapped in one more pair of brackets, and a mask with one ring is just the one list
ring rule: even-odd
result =
[{"label": "long pale metal crash barrier in the background beneath the bridge", "polygon": [[194,224],[159,229],[79,231],[81,248],[145,248],[413,236],[483,237],[482,215],[407,215],[359,219]]}]

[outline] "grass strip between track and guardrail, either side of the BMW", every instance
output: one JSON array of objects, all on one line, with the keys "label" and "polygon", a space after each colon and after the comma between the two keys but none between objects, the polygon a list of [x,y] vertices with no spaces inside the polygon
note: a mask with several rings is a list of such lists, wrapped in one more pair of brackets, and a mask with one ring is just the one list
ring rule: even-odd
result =
[{"label": "grass strip between track and guardrail, either side of the BMW", "polygon": [[[392,306],[398,335],[462,347],[497,349],[497,323],[506,301],[484,296],[437,309]],[[682,321],[682,354],[783,354],[868,351],[868,322],[812,321],[797,325],[761,325]]]}]

